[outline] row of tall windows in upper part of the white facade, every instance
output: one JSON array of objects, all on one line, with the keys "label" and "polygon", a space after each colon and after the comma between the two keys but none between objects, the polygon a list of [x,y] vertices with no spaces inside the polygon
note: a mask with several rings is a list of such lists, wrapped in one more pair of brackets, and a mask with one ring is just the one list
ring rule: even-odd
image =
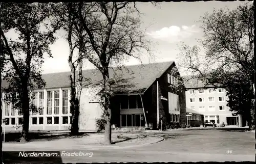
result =
[{"label": "row of tall windows in upper part of the white facade", "polygon": [[[62,90],[61,92],[62,92],[62,96],[60,95],[59,90],[47,91],[47,97],[46,97],[47,99],[46,114],[47,115],[70,114],[68,90]],[[62,99],[62,104],[60,104],[60,98]],[[45,110],[44,100],[45,100],[44,91],[33,92],[32,103],[39,108],[39,111],[33,112],[32,115],[44,114],[44,110]],[[7,116],[7,117],[16,116],[17,111],[14,110],[12,103],[4,102],[4,105],[5,105],[4,116]],[[62,108],[61,111],[60,111],[60,107]],[[18,112],[17,112],[17,115],[22,116],[22,114]]]}]

